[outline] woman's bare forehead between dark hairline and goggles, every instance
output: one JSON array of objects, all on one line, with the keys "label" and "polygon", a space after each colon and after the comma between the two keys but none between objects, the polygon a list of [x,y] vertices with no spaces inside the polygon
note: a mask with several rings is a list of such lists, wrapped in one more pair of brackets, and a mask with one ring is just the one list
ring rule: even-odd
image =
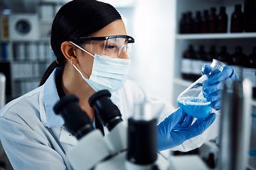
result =
[{"label": "woman's bare forehead between dark hairline and goggles", "polygon": [[90,36],[105,37],[111,35],[127,35],[124,22],[121,19],[110,23],[109,25],[105,26],[105,28],[102,28],[101,30],[92,33]]}]

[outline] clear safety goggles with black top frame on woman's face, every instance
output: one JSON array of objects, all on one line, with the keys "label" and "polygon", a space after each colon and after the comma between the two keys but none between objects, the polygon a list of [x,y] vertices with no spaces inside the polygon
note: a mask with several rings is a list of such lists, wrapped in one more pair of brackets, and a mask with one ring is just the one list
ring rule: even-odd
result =
[{"label": "clear safety goggles with black top frame on woman's face", "polygon": [[129,35],[114,35],[107,37],[83,37],[74,42],[85,42],[85,50],[89,49],[97,55],[107,55],[118,58],[125,50],[130,57],[134,38]]}]

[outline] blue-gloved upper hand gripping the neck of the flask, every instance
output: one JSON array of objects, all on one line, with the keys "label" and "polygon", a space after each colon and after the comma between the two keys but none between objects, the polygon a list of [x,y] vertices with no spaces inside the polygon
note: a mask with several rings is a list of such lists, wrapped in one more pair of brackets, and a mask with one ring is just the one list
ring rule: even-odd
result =
[{"label": "blue-gloved upper hand gripping the neck of the flask", "polygon": [[[213,68],[210,65],[205,65],[202,68],[202,73],[209,75]],[[215,109],[221,108],[221,94],[223,90],[223,82],[225,79],[232,79],[233,81],[238,80],[238,74],[235,73],[235,69],[230,66],[225,66],[222,72],[215,70],[212,72],[213,76],[209,76],[208,80],[203,81],[203,96],[210,101],[210,106]]]}]

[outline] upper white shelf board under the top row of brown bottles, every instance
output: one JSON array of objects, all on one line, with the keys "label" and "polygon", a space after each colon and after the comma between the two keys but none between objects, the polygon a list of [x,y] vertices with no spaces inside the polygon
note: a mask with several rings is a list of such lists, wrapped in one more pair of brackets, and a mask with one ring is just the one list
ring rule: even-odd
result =
[{"label": "upper white shelf board under the top row of brown bottles", "polygon": [[232,39],[256,38],[256,33],[204,33],[204,34],[177,34],[177,40],[205,40],[205,39]]}]

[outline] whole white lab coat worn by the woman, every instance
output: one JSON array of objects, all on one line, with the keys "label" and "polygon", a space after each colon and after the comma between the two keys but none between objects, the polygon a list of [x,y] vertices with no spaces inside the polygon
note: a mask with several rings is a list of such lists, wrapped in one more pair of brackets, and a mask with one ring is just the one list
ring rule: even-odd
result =
[{"label": "whole white lab coat worn by the woman", "polygon": [[[158,122],[175,110],[169,103],[147,96],[142,87],[129,80],[121,90],[112,94],[111,99],[118,106],[123,120],[133,115],[134,103],[144,101],[151,103],[152,114]],[[63,118],[53,112],[58,100],[54,71],[46,84],[16,98],[1,109],[0,139],[14,169],[72,169],[65,153],[48,131],[48,128],[53,130],[66,152],[78,142],[65,129]],[[217,135],[218,123],[215,120],[202,135],[172,149],[195,149]]]}]

